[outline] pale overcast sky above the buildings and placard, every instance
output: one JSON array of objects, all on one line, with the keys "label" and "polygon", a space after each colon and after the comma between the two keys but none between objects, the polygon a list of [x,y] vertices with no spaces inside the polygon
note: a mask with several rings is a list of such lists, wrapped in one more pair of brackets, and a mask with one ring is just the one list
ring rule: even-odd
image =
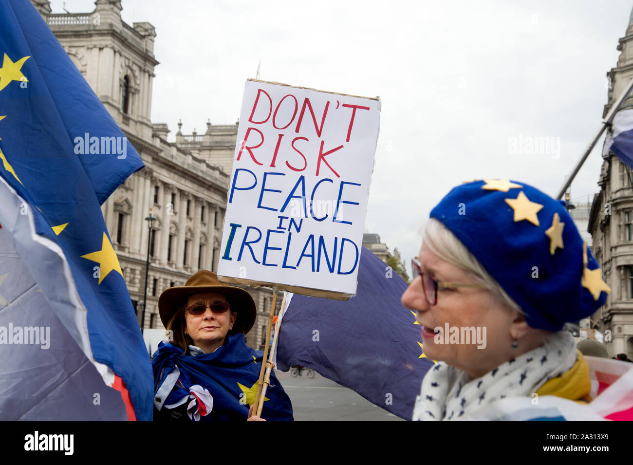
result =
[{"label": "pale overcast sky above the buildings and placard", "polygon": [[[91,0],[66,0],[84,13]],[[53,13],[63,2],[51,2]],[[175,139],[232,124],[255,77],[380,96],[368,232],[410,257],[430,209],[455,185],[510,178],[556,195],[598,129],[633,0],[122,0],[156,28],[152,121]],[[513,140],[551,137],[546,154]],[[514,139],[513,139],[514,138]],[[560,151],[557,142],[560,141]],[[572,184],[598,192],[602,144]]]}]

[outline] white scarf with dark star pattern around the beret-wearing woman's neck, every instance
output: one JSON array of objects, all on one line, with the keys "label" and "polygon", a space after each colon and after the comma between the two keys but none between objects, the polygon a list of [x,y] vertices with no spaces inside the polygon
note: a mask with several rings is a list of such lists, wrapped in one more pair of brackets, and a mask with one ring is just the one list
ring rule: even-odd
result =
[{"label": "white scarf with dark star pattern around the beret-wearing woman's neck", "polygon": [[465,419],[505,397],[530,397],[551,378],[563,375],[577,359],[572,335],[563,330],[546,336],[545,344],[499,365],[480,378],[439,362],[422,380],[413,421]]}]

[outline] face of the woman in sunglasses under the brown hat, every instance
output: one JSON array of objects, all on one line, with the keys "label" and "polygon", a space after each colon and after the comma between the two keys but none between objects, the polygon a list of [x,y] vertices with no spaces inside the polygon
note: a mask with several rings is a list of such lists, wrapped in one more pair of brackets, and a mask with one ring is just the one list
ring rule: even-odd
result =
[{"label": "face of the woman in sunglasses under the brown hat", "polygon": [[201,314],[191,314],[185,310],[185,321],[187,323],[187,334],[196,347],[206,350],[213,347],[220,347],[224,344],[227,333],[233,327],[237,314],[230,311],[213,311],[209,307],[214,304],[228,304],[227,298],[217,292],[199,292],[189,296],[186,308],[194,306],[206,306]]}]

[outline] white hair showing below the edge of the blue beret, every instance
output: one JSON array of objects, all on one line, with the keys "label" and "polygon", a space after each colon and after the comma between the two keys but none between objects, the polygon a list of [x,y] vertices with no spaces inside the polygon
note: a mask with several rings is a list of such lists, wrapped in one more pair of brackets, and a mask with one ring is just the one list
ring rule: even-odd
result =
[{"label": "white hair showing below the edge of the blue beret", "polygon": [[446,226],[442,225],[441,221],[435,218],[429,219],[424,227],[422,242],[442,260],[448,261],[448,263],[454,264],[470,273],[475,282],[490,290],[506,307],[525,315],[517,302],[506,294],[501,285],[479,263],[479,260],[468,251],[465,245]]}]

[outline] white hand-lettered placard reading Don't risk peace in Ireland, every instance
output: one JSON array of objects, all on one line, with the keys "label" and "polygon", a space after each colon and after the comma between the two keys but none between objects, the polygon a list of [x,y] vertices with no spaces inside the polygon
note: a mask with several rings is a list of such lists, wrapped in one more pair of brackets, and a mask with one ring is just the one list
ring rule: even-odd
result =
[{"label": "white hand-lettered placard reading Don't risk peace in Ireland", "polygon": [[248,80],[218,277],[356,293],[380,100]]}]

